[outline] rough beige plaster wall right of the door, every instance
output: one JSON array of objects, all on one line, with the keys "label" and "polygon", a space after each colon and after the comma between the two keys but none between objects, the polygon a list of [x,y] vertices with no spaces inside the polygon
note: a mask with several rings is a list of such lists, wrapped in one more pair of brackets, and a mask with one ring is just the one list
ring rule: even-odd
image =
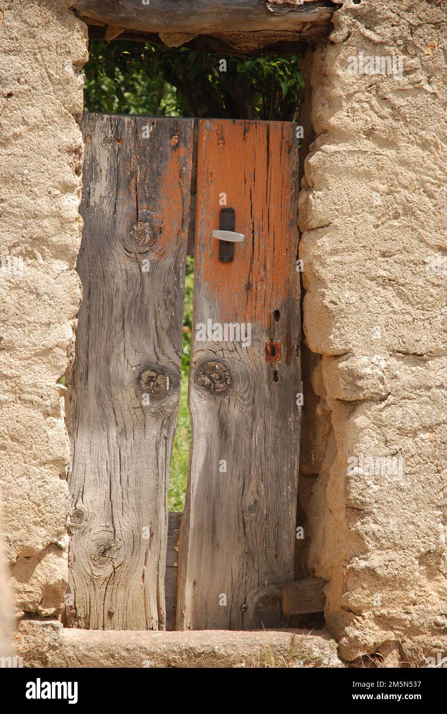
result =
[{"label": "rough beige plaster wall right of the door", "polygon": [[[447,274],[426,273],[447,249],[446,19],[441,0],[348,0],[311,59],[305,564],[328,580],[326,623],[348,660],[447,650]],[[360,51],[402,56],[403,79],[349,74]],[[361,453],[401,457],[403,475],[348,475]]]}]

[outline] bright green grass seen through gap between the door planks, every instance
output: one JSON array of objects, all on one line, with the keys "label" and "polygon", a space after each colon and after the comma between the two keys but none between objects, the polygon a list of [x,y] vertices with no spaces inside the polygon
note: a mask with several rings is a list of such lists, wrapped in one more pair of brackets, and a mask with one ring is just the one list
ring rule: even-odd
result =
[{"label": "bright green grass seen through gap between the door planks", "polygon": [[191,358],[191,329],[194,291],[194,258],[186,257],[183,345],[181,354],[180,410],[169,471],[169,511],[183,511],[188,478],[189,449],[191,447],[191,419],[188,409],[189,360]]}]

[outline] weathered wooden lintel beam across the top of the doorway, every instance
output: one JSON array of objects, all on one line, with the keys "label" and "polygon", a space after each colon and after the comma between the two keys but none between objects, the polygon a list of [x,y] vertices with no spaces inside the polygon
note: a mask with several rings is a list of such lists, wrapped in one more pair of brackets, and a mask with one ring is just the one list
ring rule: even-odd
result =
[{"label": "weathered wooden lintel beam across the top of the doorway", "polygon": [[103,23],[139,32],[216,34],[292,31],[303,24],[326,24],[337,8],[329,0],[71,0],[87,24]]}]

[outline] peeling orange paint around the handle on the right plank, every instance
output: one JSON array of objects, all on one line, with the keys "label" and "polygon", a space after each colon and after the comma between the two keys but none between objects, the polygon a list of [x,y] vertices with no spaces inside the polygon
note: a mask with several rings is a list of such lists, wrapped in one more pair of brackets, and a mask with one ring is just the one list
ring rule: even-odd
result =
[{"label": "peeling orange paint around the handle on the right plank", "polygon": [[[296,124],[203,119],[198,148],[196,274],[216,297],[221,321],[270,323],[275,308],[298,296]],[[231,263],[219,261],[212,237],[221,193],[236,212],[234,230],[245,235]]]}]

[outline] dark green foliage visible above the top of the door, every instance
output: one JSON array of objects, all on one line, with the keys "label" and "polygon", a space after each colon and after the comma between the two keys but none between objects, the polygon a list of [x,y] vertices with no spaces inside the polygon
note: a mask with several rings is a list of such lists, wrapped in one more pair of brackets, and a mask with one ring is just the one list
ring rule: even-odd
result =
[{"label": "dark green foliage visible above the top of the door", "polygon": [[[299,55],[238,59],[188,47],[93,41],[86,111],[293,121],[303,88]],[[226,71],[220,71],[226,59]]]}]

